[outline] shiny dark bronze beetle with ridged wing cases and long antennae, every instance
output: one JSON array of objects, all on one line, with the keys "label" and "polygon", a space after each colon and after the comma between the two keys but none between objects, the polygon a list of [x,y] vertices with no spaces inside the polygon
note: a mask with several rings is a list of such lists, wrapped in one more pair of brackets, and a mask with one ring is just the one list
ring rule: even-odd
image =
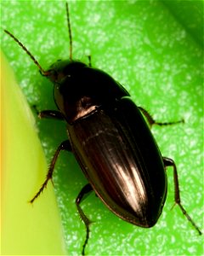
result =
[{"label": "shiny dark bronze beetle with ridged wing cases and long antennae", "polygon": [[[47,177],[31,203],[52,179],[54,166],[62,150],[71,151],[88,179],[76,199],[77,211],[86,226],[82,255],[88,244],[90,219],[80,203],[94,193],[111,212],[140,227],[154,226],[167,197],[167,166],[173,167],[175,204],[201,235],[201,230],[180,201],[178,172],[173,160],[162,157],[149,125],[174,125],[184,122],[156,122],[144,108],[138,107],[121,84],[102,70],[72,58],[71,22],[66,3],[70,38],[69,60],[57,61],[44,70],[31,52],[4,30],[26,51],[43,76],[54,84],[54,102],[58,110],[44,110],[41,118],[65,120],[69,140],[54,153]],[[149,125],[148,125],[149,123]]]}]

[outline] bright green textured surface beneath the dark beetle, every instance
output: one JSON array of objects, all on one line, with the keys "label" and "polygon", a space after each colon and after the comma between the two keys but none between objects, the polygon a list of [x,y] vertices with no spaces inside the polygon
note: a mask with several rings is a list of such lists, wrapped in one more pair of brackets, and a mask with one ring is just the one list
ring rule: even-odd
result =
[{"label": "bright green textured surface beneath the dark beetle", "polygon": [[[133,101],[160,121],[184,118],[184,125],[152,129],[161,154],[178,166],[186,210],[203,230],[203,2],[70,1],[73,55],[110,73]],[[43,68],[69,57],[62,1],[1,1],[1,26],[20,39]],[[54,109],[52,84],[20,47],[1,32],[2,48],[29,104]],[[97,86],[97,84],[96,84]],[[48,161],[66,139],[65,124],[37,120]],[[167,171],[168,195],[155,227],[141,229],[117,218],[93,194],[83,202],[94,220],[88,255],[201,255],[198,236],[173,206],[173,172]],[[87,183],[71,153],[62,153],[54,189],[65,229],[68,254],[80,254],[85,228],[75,199]],[[46,197],[46,191],[42,196]],[[39,198],[38,200],[41,200]],[[52,209],[50,209],[52,211]],[[43,241],[42,241],[43,242]]]}]

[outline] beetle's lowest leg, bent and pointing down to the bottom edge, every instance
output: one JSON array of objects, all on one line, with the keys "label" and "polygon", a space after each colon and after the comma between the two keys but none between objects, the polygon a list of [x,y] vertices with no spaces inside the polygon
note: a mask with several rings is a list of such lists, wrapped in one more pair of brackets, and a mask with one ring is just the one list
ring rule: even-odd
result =
[{"label": "beetle's lowest leg, bent and pointing down to the bottom edge", "polygon": [[85,241],[83,243],[83,246],[82,246],[82,255],[85,255],[85,247],[88,244],[88,238],[89,238],[89,233],[90,233],[89,225],[92,224],[92,221],[89,218],[87,218],[85,213],[82,211],[82,208],[80,207],[80,203],[83,201],[84,196],[87,195],[88,193],[90,193],[92,190],[93,189],[92,189],[91,185],[86,184],[82,188],[82,190],[80,191],[80,193],[79,193],[79,195],[77,196],[77,199],[76,199],[77,210],[79,212],[80,217],[82,218],[82,221],[86,225],[86,230],[87,230],[87,236],[86,236],[86,239],[85,239]]}]

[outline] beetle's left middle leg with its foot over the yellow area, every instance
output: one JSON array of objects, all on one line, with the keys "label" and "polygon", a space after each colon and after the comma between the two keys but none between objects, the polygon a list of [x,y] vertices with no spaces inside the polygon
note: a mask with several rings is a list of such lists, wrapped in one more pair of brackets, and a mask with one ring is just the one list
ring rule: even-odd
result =
[{"label": "beetle's left middle leg with its foot over the yellow area", "polygon": [[34,197],[31,199],[31,201],[30,201],[31,203],[33,203],[33,201],[35,201],[37,199],[37,197],[42,193],[43,189],[45,189],[47,187],[48,181],[50,179],[52,180],[53,172],[54,172],[54,166],[55,166],[56,160],[58,159],[59,153],[62,150],[71,151],[71,143],[70,143],[70,141],[67,140],[67,141],[61,143],[59,145],[59,147],[57,148],[57,150],[55,151],[54,157],[51,160],[51,163],[50,163],[49,168],[48,168],[48,173],[47,173],[46,179],[45,179],[44,183],[42,183],[42,186],[38,190],[37,194],[34,195]]}]

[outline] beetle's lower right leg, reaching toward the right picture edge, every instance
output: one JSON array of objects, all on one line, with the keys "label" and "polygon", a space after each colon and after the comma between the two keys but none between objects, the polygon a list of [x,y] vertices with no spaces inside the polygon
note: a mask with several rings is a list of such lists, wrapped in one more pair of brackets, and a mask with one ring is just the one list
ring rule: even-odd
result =
[{"label": "beetle's lower right leg, reaching toward the right picture edge", "polygon": [[198,228],[198,226],[195,224],[192,218],[190,218],[189,214],[185,211],[184,207],[181,204],[180,200],[180,191],[179,191],[179,184],[178,184],[178,172],[177,167],[174,163],[174,161],[170,158],[163,157],[163,163],[164,166],[173,166],[173,180],[174,180],[174,201],[175,205],[177,204],[178,207],[180,207],[181,211],[184,213],[184,216],[190,221],[190,223],[195,227],[195,230],[198,231],[199,235],[201,235],[201,230]]}]

